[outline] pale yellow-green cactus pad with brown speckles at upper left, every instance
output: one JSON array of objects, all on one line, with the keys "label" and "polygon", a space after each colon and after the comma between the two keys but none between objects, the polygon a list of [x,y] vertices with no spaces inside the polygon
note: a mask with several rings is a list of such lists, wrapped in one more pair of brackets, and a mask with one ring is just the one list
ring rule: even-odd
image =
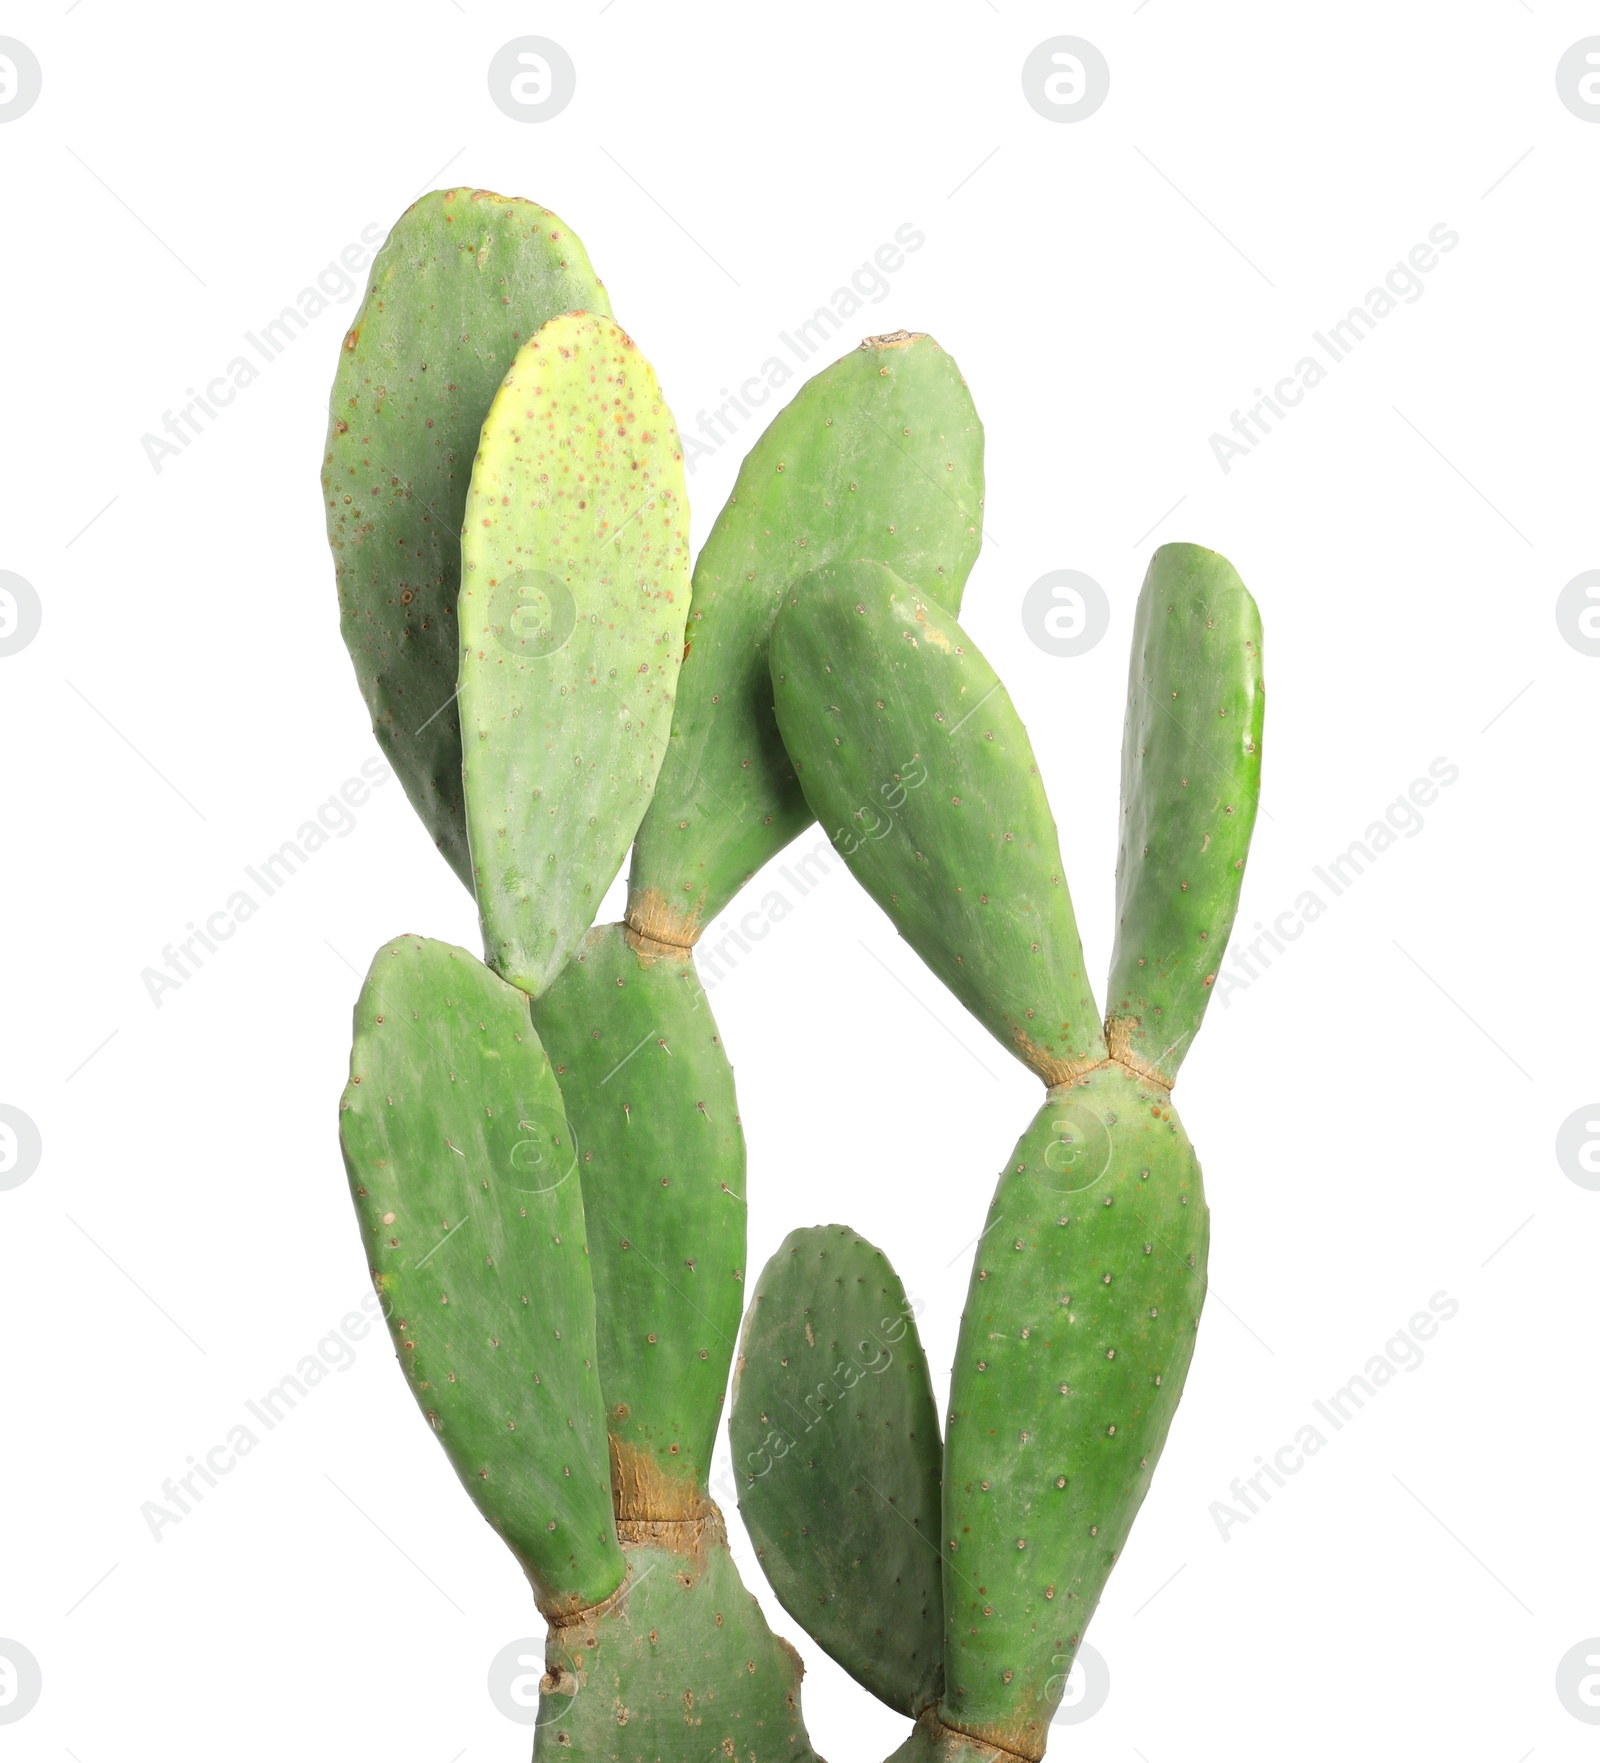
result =
[{"label": "pale yellow-green cactus pad with brown speckles at upper left", "polygon": [[656,786],[689,615],[671,411],[611,319],[518,351],[462,527],[462,774],[488,964],[537,998]]}]

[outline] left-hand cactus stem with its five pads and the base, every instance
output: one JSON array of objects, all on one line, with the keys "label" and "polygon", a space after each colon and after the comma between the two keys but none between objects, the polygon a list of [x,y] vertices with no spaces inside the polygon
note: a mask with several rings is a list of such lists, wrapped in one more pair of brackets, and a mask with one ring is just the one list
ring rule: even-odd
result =
[{"label": "left-hand cactus stem with its five pads and the base", "polygon": [[737,853],[693,911],[805,823],[765,702],[772,615],[796,566],[860,550],[959,599],[971,400],[906,333],[802,390],[696,571],[687,721],[677,428],[548,212],[441,192],[402,219],[324,485],[379,740],[478,897],[488,963],[412,938],[379,956],[345,1157],[414,1393],[552,1624],[536,1758],[814,1763],[800,1661],[707,1497],[744,1291],[731,1067],[678,920],[585,931],[636,832],[640,874],[684,860],[682,790],[640,829],[670,732],[698,742],[696,834]]}]

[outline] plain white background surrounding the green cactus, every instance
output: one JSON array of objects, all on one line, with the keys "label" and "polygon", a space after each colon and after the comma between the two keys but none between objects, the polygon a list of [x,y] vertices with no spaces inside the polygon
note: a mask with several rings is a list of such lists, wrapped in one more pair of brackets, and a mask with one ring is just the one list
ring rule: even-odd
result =
[{"label": "plain white background surrounding the green cactus", "polygon": [[[1029,723],[1093,971],[1156,543],[1225,552],[1265,619],[1241,926],[1290,908],[1433,760],[1459,767],[1424,830],[1212,1008],[1184,1068],[1212,1296],[1089,1631],[1110,1698],[1052,1754],[1593,1756],[1554,1684],[1600,1634],[1600,1194],[1554,1137],[1600,1093],[1600,661],[1554,603],[1600,566],[1600,127],[1554,71],[1596,21],[1563,0],[7,11],[44,69],[0,127],[0,568],[44,606],[0,661],[0,1100],[44,1141],[0,1194],[0,1634],[44,1673],[9,1756],[529,1752],[485,1691],[490,1657],[539,1633],[527,1587],[382,1336],[159,1543],[141,1518],[365,1289],[335,1141],[359,970],[402,929],[476,929],[389,785],[152,1005],[162,945],[374,753],[317,485],[354,301],[160,472],[141,435],[365,226],[455,180],[580,231],[685,428],[897,226],[927,234],[839,351],[927,330],[973,388],[989,543],[964,619]],[[525,32],[578,69],[539,125],[485,83]],[[1059,32],[1112,71],[1075,125],[1020,86]],[[1440,222],[1461,243],[1422,298],[1225,474],[1209,435]],[[691,480],[696,543],[744,444]],[[1059,568],[1112,603],[1080,659],[1019,617]],[[796,1224],[870,1236],[925,1301],[943,1398],[1034,1079],[839,866],[714,1000],[751,1269]],[[1459,1315],[1426,1363],[1225,1541],[1230,1481],[1434,1292]],[[731,1529],[807,1659],[818,1749],[885,1756],[906,1724],[775,1608]]]}]

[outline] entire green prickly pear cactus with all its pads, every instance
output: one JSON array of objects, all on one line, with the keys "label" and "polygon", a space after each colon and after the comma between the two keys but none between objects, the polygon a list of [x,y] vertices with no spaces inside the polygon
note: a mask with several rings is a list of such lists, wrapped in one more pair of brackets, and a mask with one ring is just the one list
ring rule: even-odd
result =
[{"label": "entire green prickly pear cactus with all its pads", "polygon": [[[707,1491],[745,1146],[693,956],[811,815],[1047,1097],[980,1239],[946,1437],[886,1257],[800,1231],[744,1317],[740,1504],[784,1606],[915,1719],[899,1756],[1041,1756],[1204,1301],[1170,1090],[1255,820],[1249,594],[1193,547],[1145,580],[1101,1021],[1027,735],[957,621],[981,428],[930,338],[800,390],[693,591],[671,413],[544,210],[416,205],[331,416],[345,636],[486,950],[379,952],[342,1144],[412,1393],[550,1620],[536,1759],[816,1763]],[[629,846],[627,919],[589,929]]]}]

